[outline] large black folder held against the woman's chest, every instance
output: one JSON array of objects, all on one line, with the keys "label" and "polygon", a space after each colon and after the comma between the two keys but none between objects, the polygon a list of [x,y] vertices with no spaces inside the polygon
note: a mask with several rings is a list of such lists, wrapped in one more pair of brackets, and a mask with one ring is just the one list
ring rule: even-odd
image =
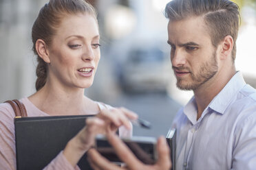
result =
[{"label": "large black folder held against the woman's chest", "polygon": [[[92,115],[15,118],[17,169],[43,169],[62,151]],[[92,169],[86,154],[78,162]]]}]

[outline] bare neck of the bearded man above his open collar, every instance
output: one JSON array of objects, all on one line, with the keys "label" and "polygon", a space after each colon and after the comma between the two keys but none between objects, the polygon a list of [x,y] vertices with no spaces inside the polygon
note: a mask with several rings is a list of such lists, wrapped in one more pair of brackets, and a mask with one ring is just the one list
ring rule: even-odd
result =
[{"label": "bare neck of the bearded man above his open collar", "polygon": [[198,89],[194,90],[195,101],[198,107],[197,120],[200,119],[204,109],[211,103],[213,98],[220,93],[222,88],[226,86],[233,75],[235,75],[235,67],[230,72],[220,70],[211,80],[205,82]]}]

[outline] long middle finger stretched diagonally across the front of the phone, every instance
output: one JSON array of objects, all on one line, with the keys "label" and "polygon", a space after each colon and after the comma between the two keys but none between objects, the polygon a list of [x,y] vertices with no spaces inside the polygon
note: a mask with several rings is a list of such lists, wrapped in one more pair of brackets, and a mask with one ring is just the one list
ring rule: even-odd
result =
[{"label": "long middle finger stretched diagonally across the front of the phone", "polygon": [[108,133],[107,139],[116,151],[116,154],[120,160],[125,162],[130,169],[142,169],[142,163],[136,158],[136,156],[134,156],[127,145],[125,145],[125,143],[123,143],[120,138],[116,136],[116,134]]}]

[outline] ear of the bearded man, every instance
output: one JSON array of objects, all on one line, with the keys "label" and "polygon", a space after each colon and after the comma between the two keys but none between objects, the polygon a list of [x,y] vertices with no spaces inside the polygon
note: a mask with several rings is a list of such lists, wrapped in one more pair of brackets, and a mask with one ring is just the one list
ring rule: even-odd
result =
[{"label": "ear of the bearded man", "polygon": [[232,36],[225,36],[224,40],[220,42],[220,59],[225,60],[232,55],[234,40]]}]

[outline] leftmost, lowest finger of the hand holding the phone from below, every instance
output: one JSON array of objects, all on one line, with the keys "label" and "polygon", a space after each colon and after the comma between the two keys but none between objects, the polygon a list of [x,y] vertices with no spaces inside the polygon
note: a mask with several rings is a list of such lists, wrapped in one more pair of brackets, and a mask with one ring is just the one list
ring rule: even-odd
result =
[{"label": "leftmost, lowest finger of the hand holding the phone from below", "polygon": [[89,163],[94,169],[105,169],[105,170],[121,170],[122,168],[109,162],[106,158],[101,156],[96,149],[89,149],[87,152]]}]

